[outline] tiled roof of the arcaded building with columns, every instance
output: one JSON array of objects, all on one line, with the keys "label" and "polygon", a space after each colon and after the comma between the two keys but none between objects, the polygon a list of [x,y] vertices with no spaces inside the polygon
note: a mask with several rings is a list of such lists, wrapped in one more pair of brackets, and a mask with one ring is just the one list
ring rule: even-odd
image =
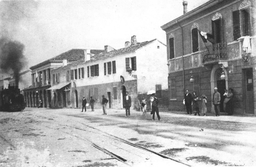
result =
[{"label": "tiled roof of the arcaded building with columns", "polygon": [[[48,63],[50,61],[62,61],[64,59],[67,59],[67,60],[70,60],[70,61],[72,61],[72,60],[73,61],[84,60],[84,50],[85,49],[71,49],[67,52],[61,53],[58,56],[55,56],[55,57],[53,57],[51,59],[48,59],[48,60],[45,60],[45,61],[43,61],[43,62],[41,62],[41,63],[39,63],[35,66],[32,66],[32,67],[30,67],[30,69],[34,69],[34,68],[36,68],[38,66],[41,66],[45,63]],[[99,54],[101,52],[104,52],[104,50],[96,50],[96,49],[91,50],[92,54]]]}]

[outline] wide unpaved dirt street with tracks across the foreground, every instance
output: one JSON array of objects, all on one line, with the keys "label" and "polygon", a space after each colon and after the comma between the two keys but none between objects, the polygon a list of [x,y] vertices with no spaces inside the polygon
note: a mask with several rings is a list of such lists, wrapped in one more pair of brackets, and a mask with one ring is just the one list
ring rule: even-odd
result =
[{"label": "wide unpaved dirt street with tracks across the foreground", "polygon": [[160,113],[161,121],[151,121],[136,111],[128,118],[123,110],[79,111],[1,112],[0,166],[256,164],[253,120]]}]

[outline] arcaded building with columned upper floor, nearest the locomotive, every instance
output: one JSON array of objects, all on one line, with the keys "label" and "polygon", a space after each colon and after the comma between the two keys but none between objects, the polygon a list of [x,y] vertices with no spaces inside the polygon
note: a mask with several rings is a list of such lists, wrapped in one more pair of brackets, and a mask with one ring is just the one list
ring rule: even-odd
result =
[{"label": "arcaded building with columned upper floor, nearest the locomotive", "polygon": [[[102,51],[103,50],[92,50],[92,54],[98,54]],[[84,49],[71,49],[30,67],[32,73],[32,85],[23,89],[27,107],[38,106],[40,99],[43,101],[43,107],[51,107],[51,91],[47,91],[47,89],[52,86],[51,70],[58,68],[63,64],[68,64],[81,59],[84,59]],[[57,80],[60,76],[56,75],[54,77]]]}]

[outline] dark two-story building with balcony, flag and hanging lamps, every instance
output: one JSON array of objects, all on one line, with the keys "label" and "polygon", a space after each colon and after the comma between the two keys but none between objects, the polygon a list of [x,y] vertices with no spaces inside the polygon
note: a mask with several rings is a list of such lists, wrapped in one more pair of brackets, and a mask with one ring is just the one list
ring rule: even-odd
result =
[{"label": "dark two-story building with balcony, flag and hanging lamps", "polygon": [[233,88],[236,114],[256,114],[255,0],[210,0],[161,28],[166,32],[169,110],[184,110],[186,89],[207,98]]}]

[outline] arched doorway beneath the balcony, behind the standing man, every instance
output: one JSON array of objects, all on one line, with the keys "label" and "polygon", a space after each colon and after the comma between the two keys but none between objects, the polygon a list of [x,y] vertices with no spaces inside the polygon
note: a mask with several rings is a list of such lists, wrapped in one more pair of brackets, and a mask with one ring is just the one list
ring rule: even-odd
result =
[{"label": "arched doorway beneath the balcony, behind the standing man", "polygon": [[[224,96],[223,94],[225,93],[225,89],[228,89],[228,74],[225,68],[221,68],[222,64],[216,64],[212,68],[212,73],[211,73],[211,93],[213,96],[214,93],[214,88],[218,88],[218,92],[220,93],[220,112],[224,112],[223,110],[223,101],[224,101]],[[222,72],[224,71],[226,75],[226,79],[220,79],[220,76]],[[212,104],[212,112],[214,112],[214,105]]]}]

